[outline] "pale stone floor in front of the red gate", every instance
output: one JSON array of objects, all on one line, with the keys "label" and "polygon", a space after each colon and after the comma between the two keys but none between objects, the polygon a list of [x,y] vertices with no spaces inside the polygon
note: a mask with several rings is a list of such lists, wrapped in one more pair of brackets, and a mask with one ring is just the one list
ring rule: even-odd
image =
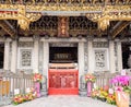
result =
[{"label": "pale stone floor in front of the red gate", "polygon": [[23,103],[17,106],[9,105],[3,107],[117,107],[92,99],[90,97],[80,97],[75,95],[50,95]]}]

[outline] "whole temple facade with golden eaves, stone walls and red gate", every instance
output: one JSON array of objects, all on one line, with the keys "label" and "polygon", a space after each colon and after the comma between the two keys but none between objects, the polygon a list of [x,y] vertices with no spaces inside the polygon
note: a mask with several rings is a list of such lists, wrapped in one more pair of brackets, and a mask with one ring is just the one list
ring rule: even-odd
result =
[{"label": "whole temple facade with golden eaves, stone walls and red gate", "polygon": [[39,72],[49,94],[85,73],[131,71],[131,0],[0,0],[0,70]]}]

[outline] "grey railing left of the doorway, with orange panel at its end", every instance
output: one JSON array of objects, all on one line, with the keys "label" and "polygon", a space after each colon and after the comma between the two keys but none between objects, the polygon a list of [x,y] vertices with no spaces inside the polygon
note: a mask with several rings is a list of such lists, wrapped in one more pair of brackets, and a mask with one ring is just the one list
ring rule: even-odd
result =
[{"label": "grey railing left of the doorway, with orange panel at its end", "polygon": [[32,74],[0,72],[0,106],[10,104],[14,94],[24,94],[26,88],[33,86]]}]

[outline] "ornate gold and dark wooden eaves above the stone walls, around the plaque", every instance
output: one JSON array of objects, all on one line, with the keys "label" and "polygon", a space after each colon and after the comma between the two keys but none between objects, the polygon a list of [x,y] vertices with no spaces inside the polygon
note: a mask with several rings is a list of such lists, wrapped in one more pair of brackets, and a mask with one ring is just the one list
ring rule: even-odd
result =
[{"label": "ornate gold and dark wooden eaves above the stone walls, around the plaque", "polygon": [[[24,35],[39,33],[56,36],[59,34],[57,21],[61,16],[69,22],[64,25],[69,26],[66,31],[71,36],[98,34],[98,36],[111,35],[114,38],[130,24],[131,0],[0,1],[0,26],[12,37],[17,34],[17,25],[22,28],[19,32],[24,31]],[[12,25],[8,20],[12,22],[15,20],[17,24]],[[114,21],[117,24],[111,26]]]}]

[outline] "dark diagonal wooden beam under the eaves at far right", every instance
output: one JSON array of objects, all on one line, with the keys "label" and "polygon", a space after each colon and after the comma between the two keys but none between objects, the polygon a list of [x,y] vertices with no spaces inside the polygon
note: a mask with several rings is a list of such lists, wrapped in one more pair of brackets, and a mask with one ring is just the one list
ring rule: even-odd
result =
[{"label": "dark diagonal wooden beam under the eaves at far right", "polygon": [[110,34],[112,36],[112,38],[115,38],[129,24],[130,24],[130,22],[128,22],[128,21],[123,21],[123,22],[119,23],[119,25]]}]

